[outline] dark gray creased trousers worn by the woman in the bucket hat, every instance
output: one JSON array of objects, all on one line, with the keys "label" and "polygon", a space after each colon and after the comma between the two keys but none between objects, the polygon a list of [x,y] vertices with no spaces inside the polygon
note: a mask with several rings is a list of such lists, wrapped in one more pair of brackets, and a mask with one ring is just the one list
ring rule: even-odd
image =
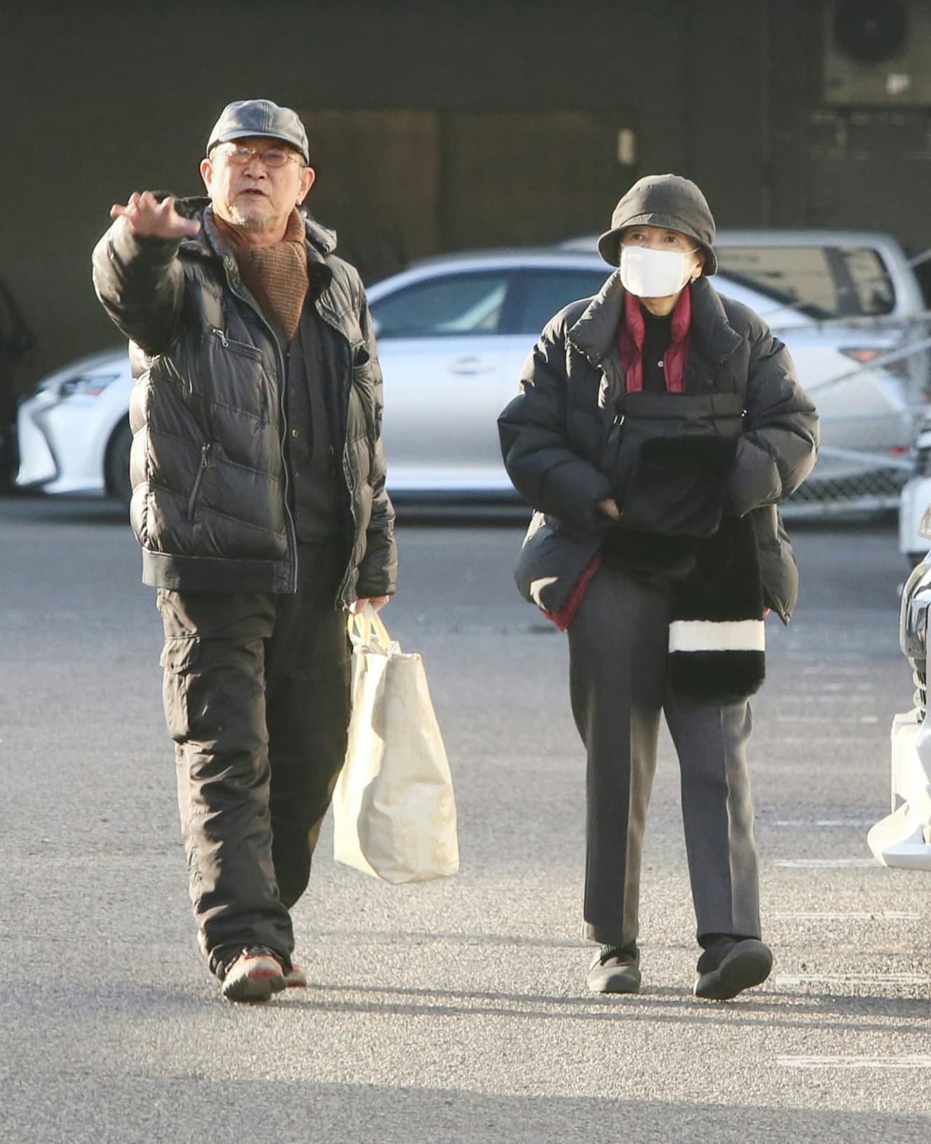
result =
[{"label": "dark gray creased trousers worn by the woman in the bucket hat", "polygon": [[747,773],[750,709],[687,702],[666,685],[669,594],[603,566],[568,629],[575,724],[588,752],[584,936],[638,934],[640,856],[660,713],[676,747],[698,936],[759,937]]}]

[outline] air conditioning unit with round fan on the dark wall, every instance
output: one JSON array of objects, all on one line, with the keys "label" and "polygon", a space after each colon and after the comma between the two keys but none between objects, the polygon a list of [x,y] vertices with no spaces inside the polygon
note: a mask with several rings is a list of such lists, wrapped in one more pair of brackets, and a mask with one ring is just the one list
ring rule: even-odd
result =
[{"label": "air conditioning unit with round fan on the dark wall", "polygon": [[830,0],[825,102],[931,106],[931,0]]}]

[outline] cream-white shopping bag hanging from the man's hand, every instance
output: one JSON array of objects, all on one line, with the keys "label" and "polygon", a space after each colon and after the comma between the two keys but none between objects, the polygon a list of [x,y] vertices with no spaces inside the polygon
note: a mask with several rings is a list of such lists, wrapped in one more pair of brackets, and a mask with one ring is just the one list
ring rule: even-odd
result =
[{"label": "cream-white shopping bag hanging from the man's hand", "polygon": [[372,607],[350,617],[352,718],[333,795],[333,857],[385,882],[459,869],[453,782],[423,661]]}]

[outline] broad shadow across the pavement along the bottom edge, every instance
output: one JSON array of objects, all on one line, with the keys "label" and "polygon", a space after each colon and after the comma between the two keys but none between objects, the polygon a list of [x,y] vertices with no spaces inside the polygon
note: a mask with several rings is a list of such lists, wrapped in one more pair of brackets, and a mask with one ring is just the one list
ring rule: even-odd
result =
[{"label": "broad shadow across the pavement along the bottom edge", "polygon": [[[443,1070],[438,1047],[437,1066]],[[445,1070],[461,1065],[453,1056]],[[622,1073],[622,1060],[605,1067]],[[658,1067],[660,1067],[658,1065]],[[613,1081],[616,1083],[616,1080]],[[926,1139],[931,1118],[894,1112],[842,1112],[825,1107],[757,1107],[750,1104],[705,1104],[621,1097],[486,1094],[459,1088],[326,1083],[312,1077],[145,1075],[110,1078],[104,1091],[86,1077],[50,1077],[38,1112],[19,1121],[8,1109],[9,1139],[64,1139],[64,1136],[16,1135],[55,1130],[67,1114],[69,1144],[137,1144],[202,1138],[209,1126],[215,1141],[272,1138],[289,1142],[371,1141],[375,1144],[590,1144],[591,1141],[730,1142]],[[745,1096],[746,1099],[746,1096]],[[789,1101],[793,1097],[788,1097]],[[796,1097],[803,1101],[804,1096]],[[102,1102],[104,1102],[102,1104]],[[18,1103],[18,1102],[16,1102]],[[269,1129],[272,1129],[270,1133]]]}]

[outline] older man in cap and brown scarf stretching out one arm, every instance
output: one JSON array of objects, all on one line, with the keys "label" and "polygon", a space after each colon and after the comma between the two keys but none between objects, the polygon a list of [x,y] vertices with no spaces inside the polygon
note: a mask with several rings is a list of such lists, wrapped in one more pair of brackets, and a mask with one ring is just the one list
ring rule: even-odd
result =
[{"label": "older man in cap and brown scarf stretching out one arm", "polygon": [[206,156],[208,198],[113,206],[94,283],[130,340],[130,515],[200,944],[225,998],[261,1001],[305,984],[288,911],[345,753],[345,611],[387,603],[397,556],[372,323],[299,210],[303,124],[231,103]]}]

